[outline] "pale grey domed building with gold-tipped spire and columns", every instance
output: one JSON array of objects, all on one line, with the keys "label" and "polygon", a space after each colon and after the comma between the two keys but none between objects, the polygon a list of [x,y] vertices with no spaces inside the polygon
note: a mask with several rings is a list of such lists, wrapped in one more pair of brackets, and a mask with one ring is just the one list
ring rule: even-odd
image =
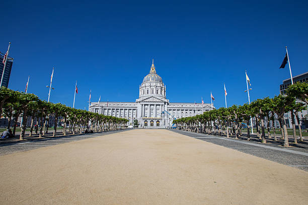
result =
[{"label": "pale grey domed building with gold-tipped spire and columns", "polygon": [[166,128],[172,126],[174,119],[200,115],[212,109],[211,104],[169,102],[166,89],[152,63],[149,74],[139,85],[139,98],[135,102],[91,102],[89,111],[128,119],[129,125],[138,120],[139,127]]}]

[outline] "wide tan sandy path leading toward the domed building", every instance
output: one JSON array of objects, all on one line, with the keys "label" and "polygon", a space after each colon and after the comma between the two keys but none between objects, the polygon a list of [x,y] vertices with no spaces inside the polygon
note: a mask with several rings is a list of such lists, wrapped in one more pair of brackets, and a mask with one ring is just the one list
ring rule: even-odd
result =
[{"label": "wide tan sandy path leading toward the domed building", "polygon": [[[214,139],[214,138],[213,138]],[[308,172],[170,130],[0,156],[0,204],[306,204]]]}]

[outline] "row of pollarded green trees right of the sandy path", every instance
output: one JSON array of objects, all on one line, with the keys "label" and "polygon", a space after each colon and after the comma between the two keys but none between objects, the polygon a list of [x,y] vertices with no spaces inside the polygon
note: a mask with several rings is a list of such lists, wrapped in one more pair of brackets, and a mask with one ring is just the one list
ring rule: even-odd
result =
[{"label": "row of pollarded green trees right of the sandy path", "polygon": [[[217,110],[207,111],[201,115],[194,117],[187,117],[174,120],[173,123],[177,125],[177,129],[186,131],[204,132],[211,134],[212,132],[218,135],[225,135],[229,137],[233,134],[236,139],[242,133],[242,124],[247,125],[247,139],[250,140],[250,119],[253,117],[256,120],[257,136],[266,143],[265,130],[267,129],[268,138],[272,138],[270,133],[270,121],[273,125],[273,137],[277,140],[275,130],[275,116],[279,122],[281,129],[281,138],[284,139],[284,146],[289,146],[288,134],[284,114],[291,112],[291,120],[293,127],[294,143],[297,143],[295,131],[295,118],[298,125],[300,124],[298,112],[306,109],[308,104],[308,84],[295,83],[290,85],[287,89],[287,95],[275,96],[273,98],[264,97],[263,99],[256,99],[251,104],[244,104],[243,106],[233,105],[229,108],[219,108]],[[299,100],[296,100],[300,99]],[[305,103],[303,103],[305,102]],[[276,115],[275,115],[276,114]],[[266,119],[266,120],[265,120]],[[218,129],[216,129],[218,127]],[[231,128],[231,130],[229,130]],[[299,129],[299,139],[303,141],[301,128]]]}]

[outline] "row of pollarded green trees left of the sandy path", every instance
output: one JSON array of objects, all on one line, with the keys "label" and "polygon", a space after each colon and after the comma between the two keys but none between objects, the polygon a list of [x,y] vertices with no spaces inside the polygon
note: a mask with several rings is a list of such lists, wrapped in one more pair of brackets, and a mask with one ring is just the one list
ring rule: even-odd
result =
[{"label": "row of pollarded green trees left of the sandy path", "polygon": [[[26,123],[30,116],[32,117],[30,136],[32,136],[33,131],[37,134],[40,127],[39,138],[48,132],[48,119],[50,116],[54,117],[53,136],[55,136],[57,131],[59,117],[63,118],[63,135],[66,135],[67,132],[72,132],[73,134],[75,132],[82,133],[89,125],[91,125],[91,129],[94,132],[124,129],[127,127],[128,122],[127,119],[74,109],[60,103],[53,104],[46,100],[40,100],[35,94],[14,91],[6,87],[0,87],[0,115],[8,118],[8,129],[10,129],[12,120],[14,121],[14,136],[18,117],[22,116],[21,140],[24,139]],[[36,126],[34,125],[35,118],[37,119]]]}]

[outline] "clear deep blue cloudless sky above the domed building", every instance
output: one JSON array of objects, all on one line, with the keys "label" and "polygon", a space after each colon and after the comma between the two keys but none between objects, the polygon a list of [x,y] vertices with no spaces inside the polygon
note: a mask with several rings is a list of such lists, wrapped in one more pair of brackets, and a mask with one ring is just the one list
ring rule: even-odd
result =
[{"label": "clear deep blue cloudless sky above the domed building", "polygon": [[[110,3],[112,2],[112,3]],[[251,2],[251,3],[249,3]],[[253,3],[252,3],[253,2]],[[170,102],[224,107],[279,94],[289,68],[308,71],[307,1],[3,1],[0,51],[12,42],[9,88],[88,107],[92,101],[135,101],[154,58]]]}]

